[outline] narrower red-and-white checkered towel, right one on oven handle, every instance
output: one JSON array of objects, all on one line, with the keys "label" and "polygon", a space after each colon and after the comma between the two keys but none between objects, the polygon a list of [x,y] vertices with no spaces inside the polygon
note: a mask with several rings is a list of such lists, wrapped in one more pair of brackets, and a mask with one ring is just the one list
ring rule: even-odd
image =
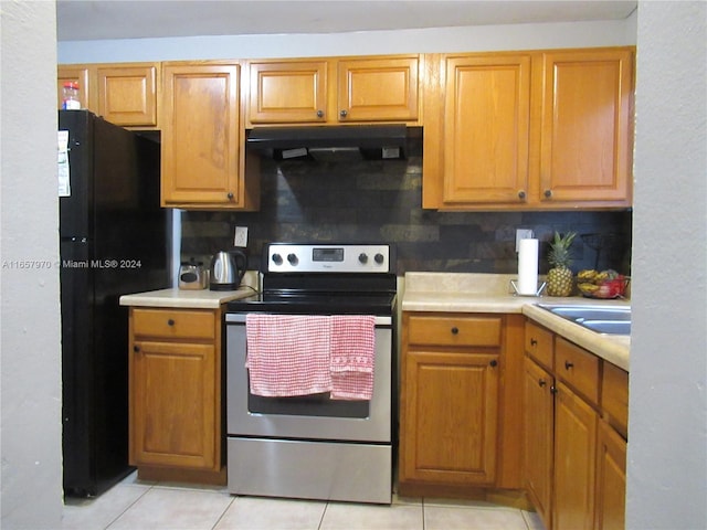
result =
[{"label": "narrower red-and-white checkered towel, right one on oven handle", "polygon": [[370,400],[373,396],[376,318],[331,317],[331,399]]}]

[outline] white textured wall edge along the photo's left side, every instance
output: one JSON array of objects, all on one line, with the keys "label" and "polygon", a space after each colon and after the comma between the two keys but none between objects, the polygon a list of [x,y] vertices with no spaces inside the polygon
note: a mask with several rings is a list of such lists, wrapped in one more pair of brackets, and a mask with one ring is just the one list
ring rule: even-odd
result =
[{"label": "white textured wall edge along the photo's left side", "polygon": [[2,2],[1,86],[0,527],[54,529],[62,438],[53,1]]}]

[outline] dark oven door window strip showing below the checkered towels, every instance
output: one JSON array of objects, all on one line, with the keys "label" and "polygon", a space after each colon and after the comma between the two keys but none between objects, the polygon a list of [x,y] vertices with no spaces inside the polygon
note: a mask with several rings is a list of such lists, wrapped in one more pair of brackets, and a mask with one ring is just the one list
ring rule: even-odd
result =
[{"label": "dark oven door window strip showing below the checkered towels", "polygon": [[328,392],[294,398],[265,398],[249,392],[247,410],[251,414],[352,417],[365,420],[369,416],[369,402],[331,400]]}]

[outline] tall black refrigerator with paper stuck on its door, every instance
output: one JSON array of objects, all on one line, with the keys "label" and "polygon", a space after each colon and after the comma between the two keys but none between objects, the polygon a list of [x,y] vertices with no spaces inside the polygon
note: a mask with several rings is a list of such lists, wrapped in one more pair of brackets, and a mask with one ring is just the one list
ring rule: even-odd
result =
[{"label": "tall black refrigerator with paper stuck on its door", "polygon": [[[159,205],[160,146],[87,110],[60,110],[64,495],[127,476],[128,312],[124,294],[171,284],[171,214]],[[67,184],[67,186],[66,186]]]}]

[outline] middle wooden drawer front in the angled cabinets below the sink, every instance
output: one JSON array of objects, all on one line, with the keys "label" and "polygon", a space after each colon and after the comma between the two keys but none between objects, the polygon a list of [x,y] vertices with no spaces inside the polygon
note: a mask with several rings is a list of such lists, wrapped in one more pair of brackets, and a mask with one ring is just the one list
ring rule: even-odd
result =
[{"label": "middle wooden drawer front in the angled cabinets below the sink", "polygon": [[574,390],[599,403],[599,363],[597,356],[567,340],[555,342],[555,373]]}]

